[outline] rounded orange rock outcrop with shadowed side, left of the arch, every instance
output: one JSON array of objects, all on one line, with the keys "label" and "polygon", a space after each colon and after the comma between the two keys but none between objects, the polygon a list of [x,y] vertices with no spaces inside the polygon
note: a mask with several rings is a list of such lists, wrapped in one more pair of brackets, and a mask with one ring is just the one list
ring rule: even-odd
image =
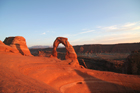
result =
[{"label": "rounded orange rock outcrop with shadowed side, left of the arch", "polygon": [[13,48],[14,52],[19,52],[22,55],[31,56],[31,53],[26,45],[26,40],[22,36],[7,37],[3,43]]}]

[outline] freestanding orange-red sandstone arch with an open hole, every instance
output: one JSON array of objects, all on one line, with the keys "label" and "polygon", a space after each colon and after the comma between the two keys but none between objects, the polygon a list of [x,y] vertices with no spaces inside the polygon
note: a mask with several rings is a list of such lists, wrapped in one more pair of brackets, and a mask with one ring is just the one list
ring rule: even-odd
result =
[{"label": "freestanding orange-red sandstone arch with an open hole", "polygon": [[57,47],[58,45],[62,43],[65,48],[66,48],[66,55],[65,55],[65,59],[69,59],[71,60],[71,62],[69,64],[73,64],[76,63],[79,65],[79,62],[77,60],[77,54],[75,53],[75,50],[73,48],[73,46],[68,42],[67,38],[64,37],[57,37],[56,40],[53,43],[53,51],[52,51],[52,55],[53,57],[57,57]]}]

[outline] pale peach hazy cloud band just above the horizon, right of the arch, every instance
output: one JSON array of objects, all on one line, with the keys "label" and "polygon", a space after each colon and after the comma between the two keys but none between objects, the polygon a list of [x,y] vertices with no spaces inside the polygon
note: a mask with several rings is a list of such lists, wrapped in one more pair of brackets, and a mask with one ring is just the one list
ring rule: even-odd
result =
[{"label": "pale peach hazy cloud band just above the horizon, right of the arch", "polygon": [[116,43],[132,43],[140,41],[140,32],[121,32],[99,35],[94,38],[78,38],[70,41],[73,45],[80,44],[116,44]]}]

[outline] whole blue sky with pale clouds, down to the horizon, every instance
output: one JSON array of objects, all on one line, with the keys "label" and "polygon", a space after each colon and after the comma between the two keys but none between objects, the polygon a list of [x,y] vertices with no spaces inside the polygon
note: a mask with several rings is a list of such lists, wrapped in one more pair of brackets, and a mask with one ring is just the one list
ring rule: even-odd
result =
[{"label": "whole blue sky with pale clouds, down to the horizon", "polygon": [[0,40],[23,36],[28,47],[140,42],[140,0],[0,0]]}]

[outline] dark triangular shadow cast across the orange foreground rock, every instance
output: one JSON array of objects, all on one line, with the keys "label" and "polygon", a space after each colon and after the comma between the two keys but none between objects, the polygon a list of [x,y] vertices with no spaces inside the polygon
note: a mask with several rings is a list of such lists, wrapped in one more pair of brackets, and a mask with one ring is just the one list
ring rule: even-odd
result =
[{"label": "dark triangular shadow cast across the orange foreground rock", "polygon": [[[87,74],[86,72],[81,72],[79,70],[75,70],[79,76],[81,76],[84,80],[77,82],[78,85],[81,86],[81,90],[85,89],[84,86],[87,86],[87,89],[83,90],[86,93],[136,93],[140,92],[137,90],[133,90],[126,86],[114,84],[111,82],[103,81],[101,79],[95,78]],[[82,87],[83,85],[83,87]]]}]

